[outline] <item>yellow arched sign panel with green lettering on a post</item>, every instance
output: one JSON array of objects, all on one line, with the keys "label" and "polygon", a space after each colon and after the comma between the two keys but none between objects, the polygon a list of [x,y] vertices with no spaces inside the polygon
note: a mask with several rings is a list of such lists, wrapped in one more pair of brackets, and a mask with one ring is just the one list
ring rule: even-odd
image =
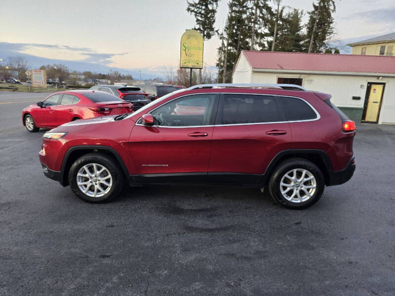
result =
[{"label": "yellow arched sign panel with green lettering on a post", "polygon": [[196,30],[188,30],[181,36],[181,68],[203,68],[203,37]]}]

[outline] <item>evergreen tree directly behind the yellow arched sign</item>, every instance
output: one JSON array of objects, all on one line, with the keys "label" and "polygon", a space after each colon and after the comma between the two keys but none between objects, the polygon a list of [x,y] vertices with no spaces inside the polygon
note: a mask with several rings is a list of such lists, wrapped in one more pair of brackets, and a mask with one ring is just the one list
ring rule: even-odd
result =
[{"label": "evergreen tree directly behind the yellow arched sign", "polygon": [[[195,16],[196,27],[203,40],[209,40],[218,33],[214,28],[219,0],[194,0],[187,1],[187,11]],[[201,82],[201,69],[199,69],[199,83]]]}]

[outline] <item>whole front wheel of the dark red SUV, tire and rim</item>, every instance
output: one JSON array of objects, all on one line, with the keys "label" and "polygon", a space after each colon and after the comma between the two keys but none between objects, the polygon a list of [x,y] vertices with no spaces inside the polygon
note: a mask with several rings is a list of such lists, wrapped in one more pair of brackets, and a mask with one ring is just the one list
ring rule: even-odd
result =
[{"label": "whole front wheel of the dark red SUV, tire and rim", "polygon": [[104,203],[118,196],[123,187],[123,175],[118,162],[104,153],[88,153],[70,168],[69,184],[83,201]]}]

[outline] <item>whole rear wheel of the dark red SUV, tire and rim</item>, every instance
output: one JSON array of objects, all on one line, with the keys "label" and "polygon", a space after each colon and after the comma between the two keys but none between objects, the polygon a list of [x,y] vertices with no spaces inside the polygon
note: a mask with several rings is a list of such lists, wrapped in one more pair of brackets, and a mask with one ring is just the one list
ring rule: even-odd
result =
[{"label": "whole rear wheel of the dark red SUV, tire and rim", "polygon": [[322,172],[313,162],[303,158],[282,162],[269,182],[272,197],[289,209],[305,209],[314,205],[323,189]]}]

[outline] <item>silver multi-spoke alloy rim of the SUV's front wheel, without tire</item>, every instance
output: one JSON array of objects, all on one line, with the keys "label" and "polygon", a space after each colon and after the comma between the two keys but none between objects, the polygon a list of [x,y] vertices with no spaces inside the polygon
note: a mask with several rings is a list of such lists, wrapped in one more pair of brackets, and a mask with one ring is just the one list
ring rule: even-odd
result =
[{"label": "silver multi-spoke alloy rim of the SUV's front wheel, without tire", "polygon": [[101,197],[110,191],[113,177],[103,165],[89,163],[79,169],[77,185],[84,194],[91,197]]}]

